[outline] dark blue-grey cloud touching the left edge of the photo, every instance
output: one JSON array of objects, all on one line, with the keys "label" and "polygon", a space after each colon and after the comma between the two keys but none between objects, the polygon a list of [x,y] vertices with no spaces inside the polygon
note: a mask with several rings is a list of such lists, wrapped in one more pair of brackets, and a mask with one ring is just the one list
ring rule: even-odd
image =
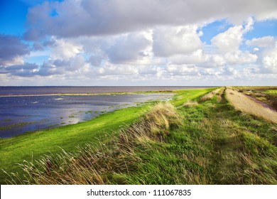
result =
[{"label": "dark blue-grey cloud touching the left edge of the photo", "polygon": [[16,36],[0,34],[0,65],[14,65],[22,63],[22,56],[28,55],[28,45]]}]

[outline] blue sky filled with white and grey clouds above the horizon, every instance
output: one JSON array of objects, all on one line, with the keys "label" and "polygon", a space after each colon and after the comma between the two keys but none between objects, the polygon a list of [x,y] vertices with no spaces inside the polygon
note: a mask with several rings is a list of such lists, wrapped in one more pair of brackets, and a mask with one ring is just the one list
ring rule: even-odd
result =
[{"label": "blue sky filled with white and grey clouds above the horizon", "polygon": [[0,86],[277,85],[276,0],[1,0]]}]

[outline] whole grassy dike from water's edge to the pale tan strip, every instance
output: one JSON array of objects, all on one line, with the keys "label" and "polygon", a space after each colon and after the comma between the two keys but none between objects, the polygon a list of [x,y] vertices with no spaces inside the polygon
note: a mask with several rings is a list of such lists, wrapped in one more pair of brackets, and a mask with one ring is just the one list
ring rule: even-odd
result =
[{"label": "whole grassy dike from water's edge to the pale tan strip", "polygon": [[[102,184],[122,181],[126,184],[276,184],[276,124],[237,111],[225,97],[225,91],[206,101],[200,100],[213,90],[176,91],[169,102],[171,105],[163,103],[165,108],[161,104],[155,107],[145,104],[118,109],[87,122],[0,139],[0,164],[4,169],[0,173],[0,182],[9,184],[27,180],[22,182],[33,183],[38,178],[31,179],[27,175],[25,179],[26,170],[22,169],[25,166],[32,176],[37,173],[38,177],[43,176],[40,179],[57,180],[56,174],[74,176],[74,181],[58,181],[68,184],[84,183],[75,181],[75,174],[87,175],[87,171],[91,173],[89,176],[95,176],[94,171],[97,171],[97,179],[102,179]],[[184,104],[190,101],[196,103],[192,106]],[[152,128],[152,123],[148,125],[147,122],[158,126]],[[136,129],[139,129],[138,134],[135,134]],[[143,134],[146,131],[148,134]],[[111,149],[116,149],[116,153]],[[85,156],[89,155],[88,161],[82,161],[85,157],[82,151]],[[49,159],[54,163],[53,172],[51,169],[51,173],[49,170],[42,173],[40,168],[45,168],[44,163]],[[88,162],[92,162],[90,170],[87,169]],[[94,166],[102,170],[98,172]],[[258,172],[252,172],[254,166]],[[264,166],[268,170],[265,171]],[[107,178],[111,171],[114,174]],[[183,171],[187,172],[186,176],[180,175]],[[13,176],[16,181],[6,181],[11,172],[17,173]],[[245,176],[241,176],[243,172]],[[265,172],[266,178],[259,174]],[[43,184],[42,181],[36,183]]]}]

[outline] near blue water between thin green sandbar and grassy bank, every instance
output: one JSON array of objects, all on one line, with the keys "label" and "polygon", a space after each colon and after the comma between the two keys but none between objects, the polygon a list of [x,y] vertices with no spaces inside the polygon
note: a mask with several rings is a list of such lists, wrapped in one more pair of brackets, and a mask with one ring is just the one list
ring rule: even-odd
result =
[{"label": "near blue water between thin green sandbar and grassy bank", "polygon": [[[24,92],[26,94],[26,92]],[[136,106],[148,100],[168,99],[169,94],[48,95],[0,97],[0,137],[84,122],[104,112]]]}]

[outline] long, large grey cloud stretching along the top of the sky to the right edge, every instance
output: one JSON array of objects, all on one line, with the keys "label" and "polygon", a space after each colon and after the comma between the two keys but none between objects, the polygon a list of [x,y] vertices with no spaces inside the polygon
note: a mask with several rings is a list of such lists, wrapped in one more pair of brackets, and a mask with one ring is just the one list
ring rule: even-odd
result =
[{"label": "long, large grey cloud stretching along the top of the sky to the right edge", "polygon": [[45,2],[29,10],[25,37],[36,40],[46,35],[111,35],[154,26],[203,23],[214,18],[229,18],[241,23],[253,15],[260,19],[277,18],[276,8],[275,0],[234,0],[224,1],[224,4],[221,0]]}]

